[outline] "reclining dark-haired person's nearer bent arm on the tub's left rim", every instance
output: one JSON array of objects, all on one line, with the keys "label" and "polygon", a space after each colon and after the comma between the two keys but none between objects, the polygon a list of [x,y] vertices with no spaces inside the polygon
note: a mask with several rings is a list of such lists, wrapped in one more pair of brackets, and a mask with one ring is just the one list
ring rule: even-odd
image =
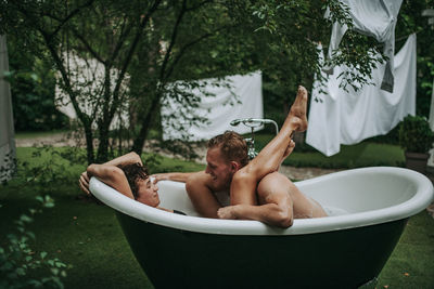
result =
[{"label": "reclining dark-haired person's nearer bent arm on the tub's left rim", "polygon": [[101,182],[110,185],[123,195],[133,199],[131,188],[123,170],[113,165],[92,163],[87,169],[88,178],[97,176]]}]

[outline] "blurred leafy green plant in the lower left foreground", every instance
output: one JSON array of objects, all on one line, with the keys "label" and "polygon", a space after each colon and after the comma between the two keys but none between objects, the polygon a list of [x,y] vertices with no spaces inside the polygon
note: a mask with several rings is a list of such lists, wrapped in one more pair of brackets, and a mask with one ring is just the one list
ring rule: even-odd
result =
[{"label": "blurred leafy green plant in the lower left foreground", "polygon": [[34,148],[30,156],[17,162],[14,180],[3,183],[16,193],[31,187],[39,195],[36,199],[40,206],[28,209],[14,221],[15,231],[7,234],[7,244],[0,247],[0,288],[63,288],[61,278],[66,277],[67,265],[58,258],[49,259],[46,251],[33,250],[29,242],[36,238],[27,225],[42,208],[54,207],[49,194],[56,191],[55,186],[76,179],[72,162],[65,160],[72,154],[69,149],[51,146]]}]

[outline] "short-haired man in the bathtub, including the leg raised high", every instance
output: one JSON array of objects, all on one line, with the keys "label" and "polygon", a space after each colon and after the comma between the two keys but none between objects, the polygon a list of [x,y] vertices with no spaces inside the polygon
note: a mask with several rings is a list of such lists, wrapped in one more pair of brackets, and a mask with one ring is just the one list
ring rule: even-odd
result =
[{"label": "short-haired man in the bathtub, including the leg raised high", "polygon": [[[244,163],[242,154],[234,154],[232,145],[225,143],[225,139],[237,143],[237,137],[227,132],[208,143],[205,171],[157,174],[156,181],[186,182],[189,197],[203,216],[257,220],[279,227],[290,227],[294,218],[326,216],[318,202],[278,172],[281,162],[294,149],[291,140],[294,131],[307,129],[306,110],[307,91],[299,87],[282,129],[251,162]],[[246,158],[246,147],[244,153]],[[221,191],[230,195],[231,206],[224,207],[217,200],[216,193]]]}]

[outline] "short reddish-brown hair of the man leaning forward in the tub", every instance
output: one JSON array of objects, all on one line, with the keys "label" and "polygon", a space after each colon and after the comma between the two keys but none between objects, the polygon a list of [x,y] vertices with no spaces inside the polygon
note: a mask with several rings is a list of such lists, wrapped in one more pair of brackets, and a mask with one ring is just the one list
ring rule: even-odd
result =
[{"label": "short reddish-brown hair of the man leaning forward in the tub", "polygon": [[222,156],[228,161],[235,160],[242,167],[248,163],[247,144],[243,136],[234,131],[226,131],[208,141],[207,148],[219,146]]}]

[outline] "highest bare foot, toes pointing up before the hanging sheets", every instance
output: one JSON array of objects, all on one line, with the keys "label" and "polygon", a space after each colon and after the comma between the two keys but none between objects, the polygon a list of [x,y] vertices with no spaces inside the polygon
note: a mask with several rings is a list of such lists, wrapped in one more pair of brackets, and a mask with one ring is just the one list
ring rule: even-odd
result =
[{"label": "highest bare foot, toes pointing up before the hanging sheets", "polygon": [[[297,96],[291,106],[286,120],[292,124],[295,131],[305,131],[307,129],[307,90],[299,86]],[[292,135],[291,135],[292,137]]]}]

